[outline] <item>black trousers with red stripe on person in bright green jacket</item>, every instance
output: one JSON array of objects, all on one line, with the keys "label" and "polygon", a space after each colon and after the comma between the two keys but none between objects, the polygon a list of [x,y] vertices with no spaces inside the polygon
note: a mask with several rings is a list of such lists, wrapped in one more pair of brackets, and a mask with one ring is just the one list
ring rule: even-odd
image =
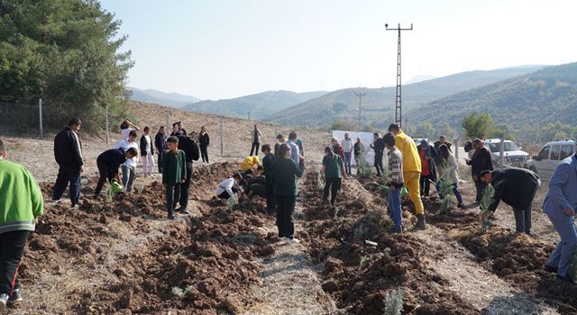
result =
[{"label": "black trousers with red stripe on person in bright green jacket", "polygon": [[22,254],[29,230],[14,230],[0,234],[0,294],[12,296],[20,287],[18,268],[22,264]]}]

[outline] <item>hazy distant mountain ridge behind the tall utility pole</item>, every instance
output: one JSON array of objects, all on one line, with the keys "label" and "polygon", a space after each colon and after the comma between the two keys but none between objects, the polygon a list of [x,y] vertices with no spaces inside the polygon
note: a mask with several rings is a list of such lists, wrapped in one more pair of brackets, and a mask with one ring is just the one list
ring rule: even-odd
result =
[{"label": "hazy distant mountain ridge behind the tall utility pole", "polygon": [[[489,85],[514,76],[521,76],[546,66],[509,67],[490,71],[469,71],[452,76],[438,77],[414,84],[403,85],[403,111],[408,112],[451,94]],[[394,120],[395,86],[382,88],[346,88],[324,94],[304,103],[291,106],[279,113],[265,117],[273,121],[296,126],[330,125],[337,119],[356,121],[362,91],[363,124],[388,124]],[[384,121],[384,122],[383,122]]]}]

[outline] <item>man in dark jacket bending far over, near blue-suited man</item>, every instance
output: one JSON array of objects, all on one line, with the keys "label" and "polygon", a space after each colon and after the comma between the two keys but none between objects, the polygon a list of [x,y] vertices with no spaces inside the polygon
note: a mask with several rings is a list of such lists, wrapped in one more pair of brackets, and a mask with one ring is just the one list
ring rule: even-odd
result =
[{"label": "man in dark jacket bending far over, near blue-suited man", "polygon": [[517,233],[530,235],[533,199],[541,185],[539,176],[525,168],[505,167],[492,172],[483,170],[480,177],[495,188],[489,211],[483,214],[483,218],[488,219],[502,200],[513,207]]}]

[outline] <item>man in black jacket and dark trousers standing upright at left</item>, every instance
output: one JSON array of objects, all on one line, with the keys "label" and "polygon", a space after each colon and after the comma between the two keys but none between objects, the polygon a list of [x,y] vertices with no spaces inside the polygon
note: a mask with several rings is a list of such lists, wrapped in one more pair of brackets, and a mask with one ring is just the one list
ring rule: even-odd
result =
[{"label": "man in black jacket and dark trousers standing upright at left", "polygon": [[69,121],[69,126],[61,130],[54,138],[54,157],[60,168],[54,184],[52,201],[60,202],[62,193],[70,183],[70,202],[72,202],[73,207],[78,204],[80,173],[84,171],[82,144],[77,134],[81,125],[82,121],[78,118],[72,118]]}]

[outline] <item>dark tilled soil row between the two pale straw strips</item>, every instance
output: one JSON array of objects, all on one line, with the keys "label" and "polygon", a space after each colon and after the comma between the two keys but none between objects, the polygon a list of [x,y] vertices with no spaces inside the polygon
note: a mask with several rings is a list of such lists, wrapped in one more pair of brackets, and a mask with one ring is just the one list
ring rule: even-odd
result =
[{"label": "dark tilled soil row between the two pale straw strips", "polygon": [[[387,294],[398,288],[404,293],[403,313],[480,313],[444,290],[446,281],[426,267],[431,253],[417,238],[387,232],[388,215],[354,179],[344,182],[342,195],[348,197],[335,210],[319,200],[315,173],[307,175],[303,192],[306,207],[313,208],[306,212],[309,254],[324,263],[323,288],[345,313],[382,314]],[[403,216],[410,227],[410,215],[404,211]],[[367,239],[378,245],[367,246]]]}]

